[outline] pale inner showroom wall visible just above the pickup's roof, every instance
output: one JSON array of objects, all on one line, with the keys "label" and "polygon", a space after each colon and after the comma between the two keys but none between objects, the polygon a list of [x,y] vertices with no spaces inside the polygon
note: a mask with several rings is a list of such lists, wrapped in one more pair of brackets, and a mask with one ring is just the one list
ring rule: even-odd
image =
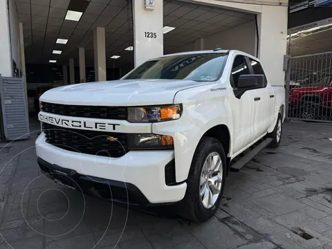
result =
[{"label": "pale inner showroom wall visible just above the pickup's roof", "polygon": [[[216,45],[221,49],[236,49],[256,55],[256,26],[255,21],[243,24],[235,28],[230,28],[221,33],[205,37],[203,39],[203,49],[212,50]],[[174,50],[174,53],[197,50],[195,42],[187,44]]]}]

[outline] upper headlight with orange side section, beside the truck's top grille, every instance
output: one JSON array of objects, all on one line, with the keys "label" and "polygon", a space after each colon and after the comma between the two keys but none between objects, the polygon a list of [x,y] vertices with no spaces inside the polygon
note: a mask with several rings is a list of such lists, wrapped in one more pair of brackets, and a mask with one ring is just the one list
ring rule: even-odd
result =
[{"label": "upper headlight with orange side section, beside the truck's top grille", "polygon": [[160,122],[176,120],[181,116],[180,104],[163,107],[129,107],[129,122]]}]

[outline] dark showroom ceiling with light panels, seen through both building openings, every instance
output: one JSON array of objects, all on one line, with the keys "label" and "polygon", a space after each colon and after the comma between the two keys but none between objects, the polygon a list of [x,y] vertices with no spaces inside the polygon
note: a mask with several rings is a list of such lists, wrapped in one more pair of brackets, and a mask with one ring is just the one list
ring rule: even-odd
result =
[{"label": "dark showroom ceiling with light panels, seen through both building openings", "polygon": [[[24,24],[26,63],[48,64],[57,59],[68,64],[70,57],[78,63],[78,47],[86,48],[86,64],[93,65],[93,28],[105,27],[107,66],[132,64],[133,46],[131,3],[126,0],[91,0],[79,22],[64,17],[70,0],[16,0],[19,21]],[[88,0],[89,1],[89,0]],[[212,8],[181,1],[164,0],[164,26],[176,29],[164,35],[164,53],[246,23],[255,16],[248,13]],[[55,44],[57,38],[68,39],[66,45]],[[53,49],[63,50],[52,55]]]}]

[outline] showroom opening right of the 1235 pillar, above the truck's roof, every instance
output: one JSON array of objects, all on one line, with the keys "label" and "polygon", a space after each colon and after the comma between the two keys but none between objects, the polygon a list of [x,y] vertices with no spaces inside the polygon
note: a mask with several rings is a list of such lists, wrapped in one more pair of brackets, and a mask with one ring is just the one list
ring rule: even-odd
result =
[{"label": "showroom opening right of the 1235 pillar, above the truck's roof", "polygon": [[256,15],[184,1],[165,1],[164,53],[237,49],[257,56]]}]

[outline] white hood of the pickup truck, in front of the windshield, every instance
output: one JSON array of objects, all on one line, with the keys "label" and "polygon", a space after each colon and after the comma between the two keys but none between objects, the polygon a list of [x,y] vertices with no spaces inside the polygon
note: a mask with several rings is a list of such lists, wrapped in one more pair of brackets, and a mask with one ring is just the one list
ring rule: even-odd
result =
[{"label": "white hood of the pickup truck, in front of the windshield", "polygon": [[40,101],[56,104],[140,106],[172,104],[183,89],[201,86],[192,80],[113,80],[60,86],[46,91]]}]

